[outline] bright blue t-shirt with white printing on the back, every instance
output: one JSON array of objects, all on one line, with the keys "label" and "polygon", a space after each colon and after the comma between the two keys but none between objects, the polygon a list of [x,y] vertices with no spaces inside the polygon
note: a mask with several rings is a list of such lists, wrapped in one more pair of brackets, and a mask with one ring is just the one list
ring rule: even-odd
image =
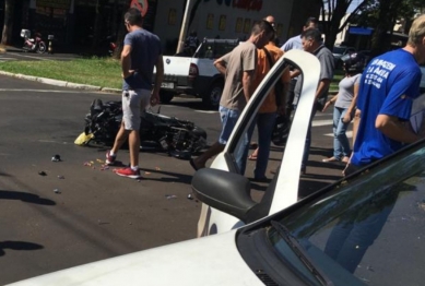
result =
[{"label": "bright blue t-shirt with white printing on the back", "polygon": [[359,83],[357,107],[361,123],[351,163],[367,165],[394,153],[402,142],[375,128],[378,115],[410,119],[413,99],[420,96],[421,69],[412,53],[398,49],[370,61]]}]

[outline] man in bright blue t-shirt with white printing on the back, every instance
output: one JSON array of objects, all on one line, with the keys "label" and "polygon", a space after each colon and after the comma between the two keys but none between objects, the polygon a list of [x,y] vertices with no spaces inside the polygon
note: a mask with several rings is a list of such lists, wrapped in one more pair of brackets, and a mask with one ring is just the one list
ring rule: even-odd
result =
[{"label": "man in bright blue t-shirt with white printing on the back", "polygon": [[361,122],[345,176],[424,138],[424,128],[415,133],[410,126],[412,103],[420,96],[417,63],[424,62],[422,15],[413,22],[406,46],[373,59],[362,75],[357,99]]}]

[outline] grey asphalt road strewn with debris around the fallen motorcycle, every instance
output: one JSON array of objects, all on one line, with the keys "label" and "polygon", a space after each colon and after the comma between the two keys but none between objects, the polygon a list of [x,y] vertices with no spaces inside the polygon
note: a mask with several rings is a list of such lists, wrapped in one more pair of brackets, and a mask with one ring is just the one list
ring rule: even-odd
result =
[{"label": "grey asphalt road strewn with debris around the fallen motorcycle", "polygon": [[[141,152],[143,179],[137,181],[102,170],[105,150],[73,144],[95,98],[120,99],[0,75],[0,285],[194,238],[201,204],[187,199],[188,162]],[[209,143],[217,138],[217,112],[202,110],[199,99],[175,98],[161,112],[204,128]],[[302,195],[340,178],[343,166],[321,163],[331,155],[330,120],[330,111],[316,117]],[[282,152],[272,150],[270,169]],[[51,162],[56,154],[62,162]],[[127,151],[119,159],[128,162]],[[252,195],[265,188],[253,183]]]}]

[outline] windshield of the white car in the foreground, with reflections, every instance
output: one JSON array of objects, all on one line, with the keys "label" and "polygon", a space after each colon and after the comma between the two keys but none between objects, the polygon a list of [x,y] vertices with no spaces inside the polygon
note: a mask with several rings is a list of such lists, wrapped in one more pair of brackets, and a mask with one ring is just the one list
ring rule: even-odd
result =
[{"label": "windshield of the white car in the foreground, with reflections", "polygon": [[[425,144],[401,154],[276,219],[333,285],[424,284]],[[268,236],[302,276],[322,284],[275,226]]]}]

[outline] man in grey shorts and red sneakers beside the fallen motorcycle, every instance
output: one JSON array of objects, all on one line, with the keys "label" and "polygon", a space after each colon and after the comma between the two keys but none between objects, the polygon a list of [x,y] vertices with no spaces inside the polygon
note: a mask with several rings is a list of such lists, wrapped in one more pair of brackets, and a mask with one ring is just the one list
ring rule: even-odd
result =
[{"label": "man in grey shorts and red sneakers beside the fallen motorcycle", "polygon": [[[122,69],[122,122],[115,139],[114,147],[106,153],[106,164],[114,165],[117,153],[128,139],[130,167],[116,171],[117,175],[138,179],[141,111],[150,104],[160,102],[160,88],[164,78],[164,64],[160,38],[142,27],[141,12],[131,8],[125,14],[125,25],[129,32],[121,52]],[[156,67],[153,91],[151,79]]]}]

